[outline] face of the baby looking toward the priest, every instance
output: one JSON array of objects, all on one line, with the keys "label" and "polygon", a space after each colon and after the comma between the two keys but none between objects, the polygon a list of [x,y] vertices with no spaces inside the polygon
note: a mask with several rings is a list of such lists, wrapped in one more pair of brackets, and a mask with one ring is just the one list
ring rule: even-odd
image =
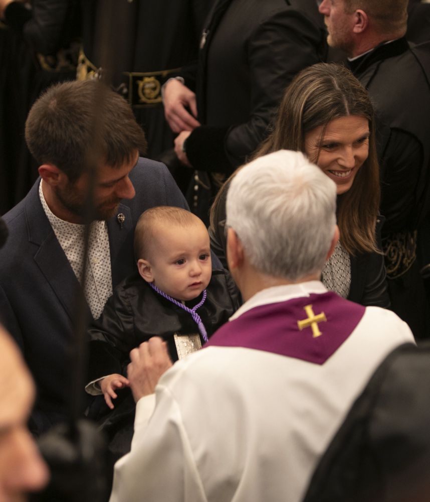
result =
[{"label": "face of the baby looking toward the priest", "polygon": [[209,234],[203,223],[156,231],[150,260],[154,285],[176,300],[193,300],[212,275]]}]

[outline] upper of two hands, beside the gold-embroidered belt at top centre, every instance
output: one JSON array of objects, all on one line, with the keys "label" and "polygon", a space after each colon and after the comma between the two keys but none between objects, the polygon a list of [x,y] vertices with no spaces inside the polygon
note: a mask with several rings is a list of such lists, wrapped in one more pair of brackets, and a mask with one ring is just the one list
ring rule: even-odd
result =
[{"label": "upper of two hands, beside the gold-embroidered belt at top centre", "polygon": [[200,125],[195,118],[197,116],[195,94],[179,80],[172,78],[165,84],[163,103],[164,116],[174,133],[192,131]]}]

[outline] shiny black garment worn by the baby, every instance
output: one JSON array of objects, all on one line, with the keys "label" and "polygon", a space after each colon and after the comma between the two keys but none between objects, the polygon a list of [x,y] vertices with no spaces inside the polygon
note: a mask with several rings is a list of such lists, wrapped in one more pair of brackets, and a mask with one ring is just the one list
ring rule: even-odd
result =
[{"label": "shiny black garment worn by the baby", "polygon": [[[239,308],[237,288],[224,270],[213,270],[207,297],[197,314],[211,336]],[[192,308],[201,295],[185,305]],[[191,314],[154,291],[138,274],[124,279],[107,301],[100,318],[88,330],[90,340],[89,381],[112,373],[124,373],[130,350],[152,336],[166,340],[169,355],[178,359],[174,334],[197,334]],[[200,335],[203,345],[204,340]]]}]

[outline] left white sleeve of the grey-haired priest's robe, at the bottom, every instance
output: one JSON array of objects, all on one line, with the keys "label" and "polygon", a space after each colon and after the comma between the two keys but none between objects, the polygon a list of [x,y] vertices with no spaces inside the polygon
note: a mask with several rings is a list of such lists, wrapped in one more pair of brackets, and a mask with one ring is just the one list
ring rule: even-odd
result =
[{"label": "left white sleeve of the grey-haired priest's robe, at the bottom", "polygon": [[158,385],[156,398],[137,403],[131,451],[115,464],[110,502],[184,500],[206,502],[206,497],[179,406],[169,389]]}]

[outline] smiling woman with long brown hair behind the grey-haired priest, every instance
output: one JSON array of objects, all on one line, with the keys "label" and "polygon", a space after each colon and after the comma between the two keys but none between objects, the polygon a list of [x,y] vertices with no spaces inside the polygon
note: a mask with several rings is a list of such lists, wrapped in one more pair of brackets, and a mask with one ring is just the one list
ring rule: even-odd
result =
[{"label": "smiling woman with long brown hair behind the grey-haired priest", "polygon": [[[364,87],[345,67],[317,64],[300,72],[284,93],[272,134],[254,154],[305,153],[337,185],[340,243],[323,270],[328,289],[362,305],[389,305],[377,215],[379,168],[373,108]],[[234,176],[234,174],[232,175]],[[229,182],[211,211],[211,245],[223,260]]]}]

